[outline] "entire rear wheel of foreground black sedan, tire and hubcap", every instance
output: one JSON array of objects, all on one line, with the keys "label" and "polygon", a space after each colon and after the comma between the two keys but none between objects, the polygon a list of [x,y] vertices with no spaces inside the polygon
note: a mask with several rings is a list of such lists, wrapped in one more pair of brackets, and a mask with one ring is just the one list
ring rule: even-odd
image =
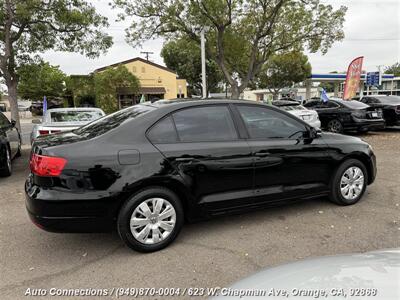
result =
[{"label": "entire rear wheel of foreground black sedan, tire and hubcap", "polygon": [[[162,219],[163,215],[168,217]],[[175,193],[163,187],[148,187],[124,203],[118,214],[117,229],[131,249],[154,252],[175,240],[183,222],[182,203]]]}]

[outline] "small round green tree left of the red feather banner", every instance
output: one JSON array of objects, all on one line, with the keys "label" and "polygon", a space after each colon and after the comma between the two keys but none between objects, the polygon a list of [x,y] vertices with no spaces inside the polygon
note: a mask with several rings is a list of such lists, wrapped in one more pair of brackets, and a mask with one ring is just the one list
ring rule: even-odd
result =
[{"label": "small round green tree left of the red feather banner", "polygon": [[308,57],[300,51],[272,56],[258,78],[258,87],[267,88],[277,99],[281,89],[292,87],[311,75]]}]

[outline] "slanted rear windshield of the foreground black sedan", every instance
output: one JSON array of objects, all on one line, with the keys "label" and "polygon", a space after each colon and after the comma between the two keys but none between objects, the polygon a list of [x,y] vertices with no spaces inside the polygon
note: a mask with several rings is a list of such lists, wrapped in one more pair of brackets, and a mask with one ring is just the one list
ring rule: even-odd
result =
[{"label": "slanted rear windshield of the foreground black sedan", "polygon": [[138,104],[93,121],[73,132],[86,138],[94,138],[117,128],[128,119],[134,119],[154,109],[152,106]]}]

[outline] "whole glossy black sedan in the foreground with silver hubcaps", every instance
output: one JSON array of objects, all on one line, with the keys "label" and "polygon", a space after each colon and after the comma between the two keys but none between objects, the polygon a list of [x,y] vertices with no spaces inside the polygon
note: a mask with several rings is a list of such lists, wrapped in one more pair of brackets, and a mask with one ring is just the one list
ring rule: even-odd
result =
[{"label": "whole glossy black sedan in the foreground with silver hubcaps", "polygon": [[321,133],[278,108],[239,100],[138,104],[39,137],[26,207],[40,228],[117,228],[132,249],[166,247],[184,220],[329,197],[351,205],[376,175],[359,138]]}]

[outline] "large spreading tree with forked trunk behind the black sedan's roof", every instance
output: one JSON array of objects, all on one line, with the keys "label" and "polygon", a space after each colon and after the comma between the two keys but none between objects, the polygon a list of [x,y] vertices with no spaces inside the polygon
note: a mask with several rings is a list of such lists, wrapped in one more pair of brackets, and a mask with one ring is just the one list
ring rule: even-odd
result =
[{"label": "large spreading tree with forked trunk behind the black sedan's roof", "polygon": [[319,0],[114,0],[133,17],[127,41],[137,46],[153,37],[186,37],[200,43],[230,84],[232,98],[253,81],[271,55],[305,49],[326,53],[342,30],[346,7]]}]

